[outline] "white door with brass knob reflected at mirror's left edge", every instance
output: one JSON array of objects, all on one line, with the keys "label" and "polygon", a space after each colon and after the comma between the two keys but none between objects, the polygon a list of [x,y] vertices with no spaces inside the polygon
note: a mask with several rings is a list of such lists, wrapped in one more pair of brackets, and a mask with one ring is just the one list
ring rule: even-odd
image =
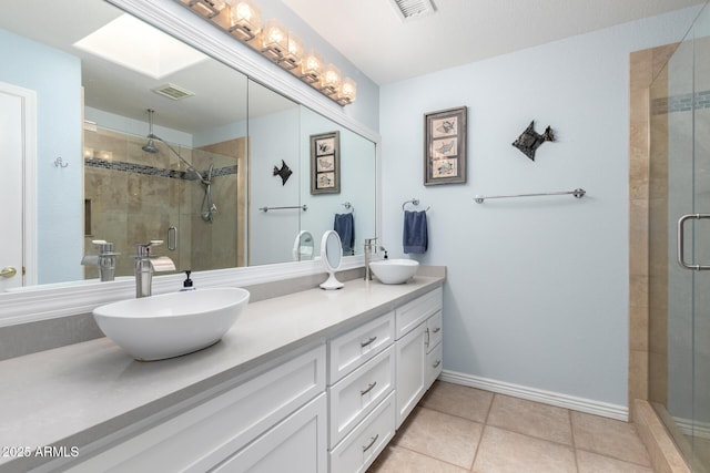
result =
[{"label": "white door with brass knob reflected at mirror's left edge", "polygon": [[[26,178],[34,171],[34,92],[0,82],[0,291],[23,286],[23,241],[27,232],[33,233],[26,223],[34,215],[34,199],[27,202],[34,189]],[[32,210],[24,215],[29,205]],[[30,259],[33,267],[33,250]]]}]

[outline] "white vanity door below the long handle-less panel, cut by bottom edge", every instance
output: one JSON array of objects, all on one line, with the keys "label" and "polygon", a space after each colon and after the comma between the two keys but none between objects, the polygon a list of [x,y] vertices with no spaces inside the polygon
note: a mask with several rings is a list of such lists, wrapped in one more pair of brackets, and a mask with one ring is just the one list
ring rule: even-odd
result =
[{"label": "white vanity door below the long handle-less panel, cut by bottom edge", "polygon": [[323,393],[211,471],[326,473],[326,417]]}]

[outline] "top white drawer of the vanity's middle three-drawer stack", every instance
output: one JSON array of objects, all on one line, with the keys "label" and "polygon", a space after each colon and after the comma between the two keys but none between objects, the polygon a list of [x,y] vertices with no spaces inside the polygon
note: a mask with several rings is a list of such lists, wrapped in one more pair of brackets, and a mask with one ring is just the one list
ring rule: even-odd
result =
[{"label": "top white drawer of the vanity's middle three-drawer stack", "polygon": [[328,341],[328,384],[353,371],[392,345],[395,312],[372,320],[355,330]]}]

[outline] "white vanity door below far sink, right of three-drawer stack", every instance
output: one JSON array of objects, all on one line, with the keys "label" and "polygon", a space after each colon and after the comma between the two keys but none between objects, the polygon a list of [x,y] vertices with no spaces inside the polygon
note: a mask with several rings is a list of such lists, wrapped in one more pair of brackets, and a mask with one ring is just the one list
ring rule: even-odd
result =
[{"label": "white vanity door below far sink, right of three-drawer stack", "polygon": [[426,322],[397,340],[397,429],[426,391]]}]

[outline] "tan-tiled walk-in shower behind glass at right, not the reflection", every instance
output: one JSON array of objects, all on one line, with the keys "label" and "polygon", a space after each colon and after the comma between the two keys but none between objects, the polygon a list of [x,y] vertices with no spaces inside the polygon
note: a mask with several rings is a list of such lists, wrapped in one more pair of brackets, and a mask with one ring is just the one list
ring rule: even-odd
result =
[{"label": "tan-tiled walk-in shower behind glass at right, not the reflection", "polygon": [[710,471],[710,11],[649,95],[649,400]]}]

